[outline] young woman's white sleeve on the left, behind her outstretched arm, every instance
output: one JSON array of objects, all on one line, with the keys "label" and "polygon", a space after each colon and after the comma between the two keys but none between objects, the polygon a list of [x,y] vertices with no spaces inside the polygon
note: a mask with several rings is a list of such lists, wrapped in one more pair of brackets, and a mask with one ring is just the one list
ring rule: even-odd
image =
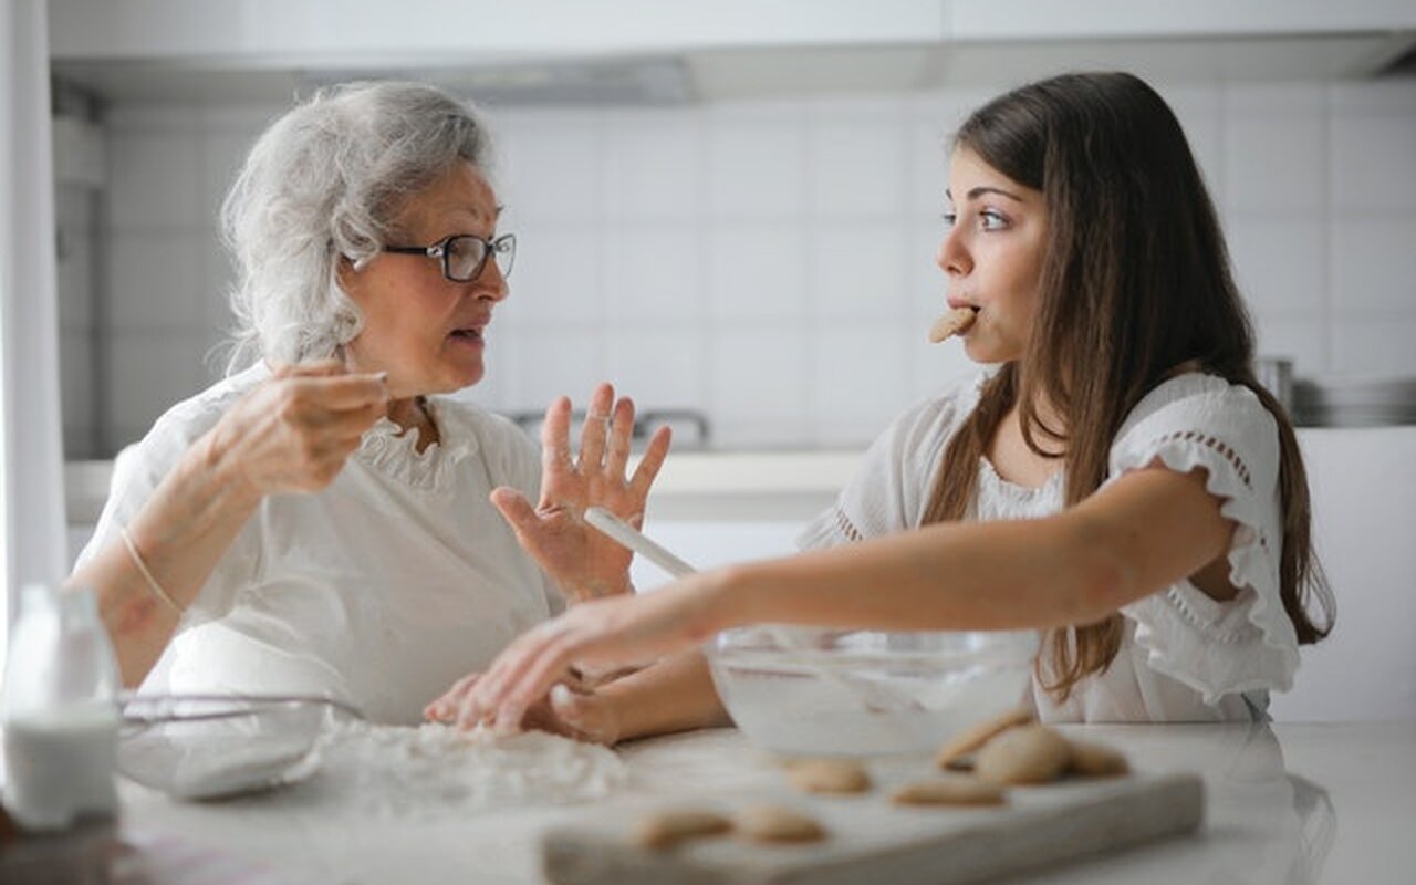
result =
[{"label": "young woman's white sleeve on the left, behind her outstretched arm", "polygon": [[797,535],[797,548],[837,547],[916,528],[944,446],[977,405],[987,378],[981,374],[960,382],[891,422],[861,457],[835,503]]}]

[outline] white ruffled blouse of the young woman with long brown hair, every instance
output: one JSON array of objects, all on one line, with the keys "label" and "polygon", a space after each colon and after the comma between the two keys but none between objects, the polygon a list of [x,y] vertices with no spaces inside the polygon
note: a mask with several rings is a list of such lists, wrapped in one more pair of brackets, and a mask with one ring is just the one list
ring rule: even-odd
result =
[{"label": "white ruffled blouse of the young woman with long brown hair", "polygon": [[[807,525],[803,548],[833,547],[920,525],[944,446],[978,402],[987,375],[899,416],[867,452],[837,503]],[[1131,411],[1110,450],[1107,481],[1154,463],[1208,472],[1206,487],[1238,524],[1229,578],[1240,588],[1216,602],[1188,581],[1121,609],[1124,637],[1112,666],[1083,680],[1063,704],[1042,691],[1032,702],[1054,722],[1189,722],[1264,718],[1269,691],[1286,691],[1298,666],[1293,623],[1279,598],[1283,548],[1279,435],[1273,415],[1245,387],[1185,374],[1153,389]],[[978,464],[978,520],[1055,514],[1062,472],[1038,489]]]}]

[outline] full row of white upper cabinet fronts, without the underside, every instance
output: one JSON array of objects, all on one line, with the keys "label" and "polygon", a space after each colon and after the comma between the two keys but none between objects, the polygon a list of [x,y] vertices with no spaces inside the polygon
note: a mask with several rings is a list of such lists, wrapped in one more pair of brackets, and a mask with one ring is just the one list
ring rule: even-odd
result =
[{"label": "full row of white upper cabinet fronts, without the underside", "polygon": [[[1399,0],[51,0],[58,59],[193,59],[374,52],[640,52],[1011,40],[1375,34],[1416,27]],[[430,27],[435,25],[435,27]]]}]

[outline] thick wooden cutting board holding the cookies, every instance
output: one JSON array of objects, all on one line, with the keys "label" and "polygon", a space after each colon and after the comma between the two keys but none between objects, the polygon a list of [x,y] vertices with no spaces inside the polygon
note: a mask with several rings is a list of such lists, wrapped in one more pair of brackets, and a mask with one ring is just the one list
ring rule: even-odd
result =
[{"label": "thick wooden cutting board holding the cookies", "polygon": [[[701,807],[733,813],[786,804],[816,817],[824,841],[762,845],[726,835],[673,850],[634,845],[629,834],[653,809]],[[598,809],[544,834],[547,878],[559,885],[777,885],[991,881],[1089,854],[1191,833],[1204,816],[1195,775],[1130,775],[1112,780],[1014,787],[1005,806],[901,807],[886,790],[862,796],[779,792]]]}]

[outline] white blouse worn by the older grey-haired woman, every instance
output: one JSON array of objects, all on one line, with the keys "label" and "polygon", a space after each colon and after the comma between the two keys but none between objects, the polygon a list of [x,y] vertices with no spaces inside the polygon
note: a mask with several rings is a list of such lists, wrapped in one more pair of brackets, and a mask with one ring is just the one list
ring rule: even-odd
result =
[{"label": "white blouse worn by the older grey-haired woman", "polygon": [[[112,544],[187,447],[269,375],[263,365],[163,415],[118,460],[85,561]],[[511,422],[429,401],[440,445],[381,419],[316,494],[262,500],[143,692],[316,692],[416,724],[456,678],[564,607],[487,500],[539,487],[539,455]],[[534,497],[532,497],[534,500]]]}]

